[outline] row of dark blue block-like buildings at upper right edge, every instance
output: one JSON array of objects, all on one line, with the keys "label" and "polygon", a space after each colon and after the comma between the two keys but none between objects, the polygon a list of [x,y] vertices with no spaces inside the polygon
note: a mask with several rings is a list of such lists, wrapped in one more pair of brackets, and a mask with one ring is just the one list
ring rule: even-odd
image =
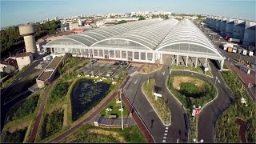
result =
[{"label": "row of dark blue block-like buildings at upper right edge", "polygon": [[256,22],[235,18],[208,16],[206,24],[230,38],[238,38],[242,45],[255,46]]}]

